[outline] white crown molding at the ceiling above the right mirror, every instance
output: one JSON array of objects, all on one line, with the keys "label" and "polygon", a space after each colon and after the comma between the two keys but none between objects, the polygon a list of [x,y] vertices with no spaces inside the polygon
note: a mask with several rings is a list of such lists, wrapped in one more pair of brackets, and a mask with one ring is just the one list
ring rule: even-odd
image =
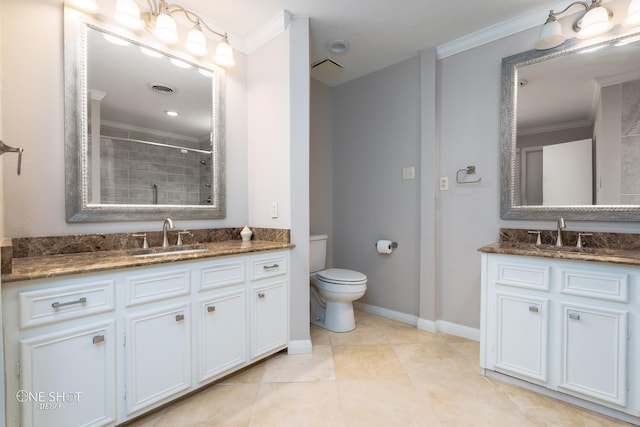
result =
[{"label": "white crown molding at the ceiling above the right mirror", "polygon": [[436,47],[437,58],[446,58],[456,53],[464,52],[465,50],[528,30],[529,28],[542,26],[550,10],[562,10],[571,3],[572,1],[570,0],[555,1],[546,6],[537,7],[529,12],[507,19],[506,21],[491,25],[480,31],[467,34],[459,39],[443,43]]}]

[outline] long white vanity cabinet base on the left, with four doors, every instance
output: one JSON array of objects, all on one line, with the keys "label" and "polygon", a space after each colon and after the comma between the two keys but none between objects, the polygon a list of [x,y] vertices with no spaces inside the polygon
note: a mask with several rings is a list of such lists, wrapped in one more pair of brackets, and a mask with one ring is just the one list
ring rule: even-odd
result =
[{"label": "long white vanity cabinet base on the left, with four doors", "polygon": [[288,262],[277,250],[3,283],[6,424],[115,426],[286,348]]}]

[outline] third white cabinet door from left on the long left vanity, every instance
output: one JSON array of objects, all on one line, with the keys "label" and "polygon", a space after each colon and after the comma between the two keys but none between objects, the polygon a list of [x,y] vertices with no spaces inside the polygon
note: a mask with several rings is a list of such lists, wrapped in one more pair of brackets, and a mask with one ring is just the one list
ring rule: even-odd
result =
[{"label": "third white cabinet door from left on the long left vanity", "polygon": [[199,380],[243,364],[247,360],[246,293],[244,289],[216,294],[199,304]]}]

